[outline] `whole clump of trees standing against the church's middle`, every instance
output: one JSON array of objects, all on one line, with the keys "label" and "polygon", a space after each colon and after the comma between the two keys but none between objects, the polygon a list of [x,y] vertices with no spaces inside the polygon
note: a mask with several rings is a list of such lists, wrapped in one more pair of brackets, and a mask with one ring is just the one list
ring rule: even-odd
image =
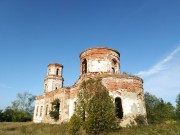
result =
[{"label": "whole clump of trees standing against the church's middle", "polygon": [[77,99],[76,114],[91,134],[111,130],[115,125],[115,106],[100,79],[83,81]]}]

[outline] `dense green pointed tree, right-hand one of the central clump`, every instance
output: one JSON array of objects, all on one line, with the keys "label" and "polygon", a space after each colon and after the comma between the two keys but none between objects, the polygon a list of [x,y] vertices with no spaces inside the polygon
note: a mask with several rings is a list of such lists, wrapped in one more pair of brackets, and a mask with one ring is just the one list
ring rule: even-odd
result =
[{"label": "dense green pointed tree, right-hand one of the central clump", "polygon": [[96,83],[97,91],[87,106],[85,129],[91,134],[100,134],[115,128],[115,106],[107,89],[99,80]]}]

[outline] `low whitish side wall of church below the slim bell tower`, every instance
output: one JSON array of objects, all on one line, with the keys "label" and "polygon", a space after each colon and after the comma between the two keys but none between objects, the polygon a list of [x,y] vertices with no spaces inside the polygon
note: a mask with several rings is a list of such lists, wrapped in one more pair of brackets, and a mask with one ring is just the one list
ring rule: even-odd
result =
[{"label": "low whitish side wall of church below the slim bell tower", "polygon": [[[58,121],[55,121],[49,115],[49,111],[51,111],[52,108],[51,102],[53,102],[55,99],[60,100],[60,115]],[[37,97],[33,121],[36,123],[45,122],[56,124],[61,122],[67,122],[69,120],[69,99],[69,88],[62,88],[59,90],[51,91],[49,93],[44,94],[43,96]],[[37,110],[37,108],[41,108],[42,111],[41,109]]]}]

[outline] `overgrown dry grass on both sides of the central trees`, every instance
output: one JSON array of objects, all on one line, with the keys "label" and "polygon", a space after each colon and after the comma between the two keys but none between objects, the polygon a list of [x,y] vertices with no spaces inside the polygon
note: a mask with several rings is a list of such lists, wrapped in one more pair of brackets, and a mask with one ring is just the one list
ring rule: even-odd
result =
[{"label": "overgrown dry grass on both sides of the central trees", "polygon": [[[1,122],[0,135],[68,135],[66,124],[34,124]],[[85,134],[84,134],[85,135]],[[166,122],[158,125],[123,128],[108,135],[180,135],[180,122]]]}]

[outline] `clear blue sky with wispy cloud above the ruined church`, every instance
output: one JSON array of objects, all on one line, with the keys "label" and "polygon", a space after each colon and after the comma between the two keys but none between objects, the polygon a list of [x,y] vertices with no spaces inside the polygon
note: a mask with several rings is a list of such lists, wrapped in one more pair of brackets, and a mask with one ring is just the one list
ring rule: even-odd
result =
[{"label": "clear blue sky with wispy cloud above the ruined church", "polygon": [[0,0],[0,109],[25,91],[41,95],[49,63],[79,78],[79,54],[120,52],[121,72],[175,106],[180,93],[179,0]]}]

